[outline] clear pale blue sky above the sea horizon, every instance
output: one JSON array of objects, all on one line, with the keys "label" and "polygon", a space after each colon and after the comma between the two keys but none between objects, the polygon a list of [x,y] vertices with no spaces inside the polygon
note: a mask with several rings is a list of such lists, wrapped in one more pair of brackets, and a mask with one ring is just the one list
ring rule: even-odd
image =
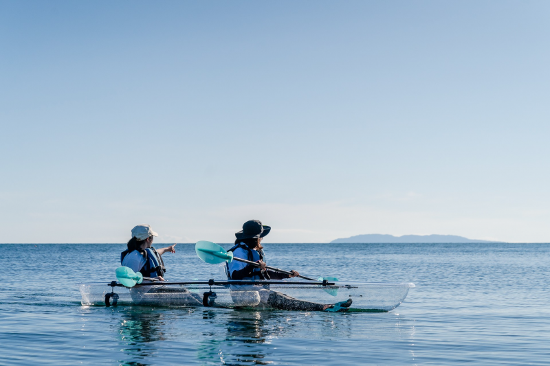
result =
[{"label": "clear pale blue sky above the sea horizon", "polygon": [[550,242],[550,1],[1,1],[0,242]]}]

